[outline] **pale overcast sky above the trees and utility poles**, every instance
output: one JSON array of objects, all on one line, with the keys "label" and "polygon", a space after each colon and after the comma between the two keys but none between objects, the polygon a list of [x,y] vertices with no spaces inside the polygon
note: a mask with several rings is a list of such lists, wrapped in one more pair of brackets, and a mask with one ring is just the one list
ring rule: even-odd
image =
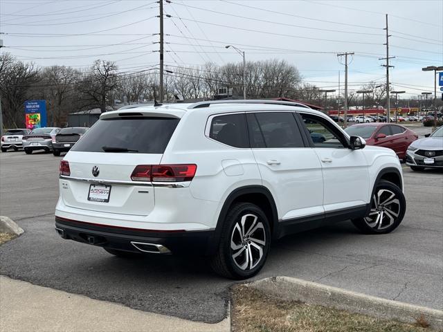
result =
[{"label": "pale overcast sky above the trees and utility poles", "polygon": [[[174,0],[164,4],[165,64],[191,66],[285,59],[305,81],[343,90],[350,58],[350,89],[386,80],[385,14],[389,15],[391,82],[417,96],[433,92],[433,74],[443,65],[443,0]],[[1,52],[39,66],[88,67],[94,59],[116,61],[123,72],[159,63],[159,3],[150,0],[1,0]],[[171,68],[173,70],[173,68]],[[437,88],[438,89],[438,88]]]}]

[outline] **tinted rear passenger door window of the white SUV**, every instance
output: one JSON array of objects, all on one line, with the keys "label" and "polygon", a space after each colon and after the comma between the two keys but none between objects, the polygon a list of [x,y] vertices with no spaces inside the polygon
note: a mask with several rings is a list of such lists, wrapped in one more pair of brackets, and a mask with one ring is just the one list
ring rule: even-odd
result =
[{"label": "tinted rear passenger door window of the white SUV", "polygon": [[[296,119],[290,112],[255,113],[265,147],[304,147]],[[255,134],[254,138],[257,137]]]}]

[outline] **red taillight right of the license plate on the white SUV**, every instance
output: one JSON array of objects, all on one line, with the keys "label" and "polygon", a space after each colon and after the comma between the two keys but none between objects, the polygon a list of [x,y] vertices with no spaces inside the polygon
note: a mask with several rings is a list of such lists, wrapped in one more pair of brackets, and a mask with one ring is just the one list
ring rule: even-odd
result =
[{"label": "red taillight right of the license plate on the white SUV", "polygon": [[197,171],[195,164],[138,165],[131,174],[132,181],[182,182],[191,181]]}]

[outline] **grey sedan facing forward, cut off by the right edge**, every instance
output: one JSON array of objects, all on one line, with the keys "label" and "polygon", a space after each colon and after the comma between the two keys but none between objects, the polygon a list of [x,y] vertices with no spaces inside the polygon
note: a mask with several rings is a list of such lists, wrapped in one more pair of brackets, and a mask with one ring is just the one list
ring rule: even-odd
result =
[{"label": "grey sedan facing forward, cut off by the right edge", "polygon": [[406,151],[406,165],[413,171],[426,167],[443,169],[443,127],[409,145]]}]

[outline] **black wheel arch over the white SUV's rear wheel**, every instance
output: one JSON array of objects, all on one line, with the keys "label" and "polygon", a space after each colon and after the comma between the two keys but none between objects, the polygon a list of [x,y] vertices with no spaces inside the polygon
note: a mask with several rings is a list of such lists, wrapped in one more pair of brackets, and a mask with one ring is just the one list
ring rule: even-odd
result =
[{"label": "black wheel arch over the white SUV's rear wheel", "polygon": [[226,214],[228,214],[228,210],[233,204],[239,202],[253,203],[263,210],[269,219],[269,223],[271,223],[271,234],[272,238],[275,239],[276,234],[278,234],[278,212],[271,192],[263,185],[246,185],[230,192],[224,201],[217,219],[213,238],[208,243],[207,255],[212,255],[217,250]]}]

